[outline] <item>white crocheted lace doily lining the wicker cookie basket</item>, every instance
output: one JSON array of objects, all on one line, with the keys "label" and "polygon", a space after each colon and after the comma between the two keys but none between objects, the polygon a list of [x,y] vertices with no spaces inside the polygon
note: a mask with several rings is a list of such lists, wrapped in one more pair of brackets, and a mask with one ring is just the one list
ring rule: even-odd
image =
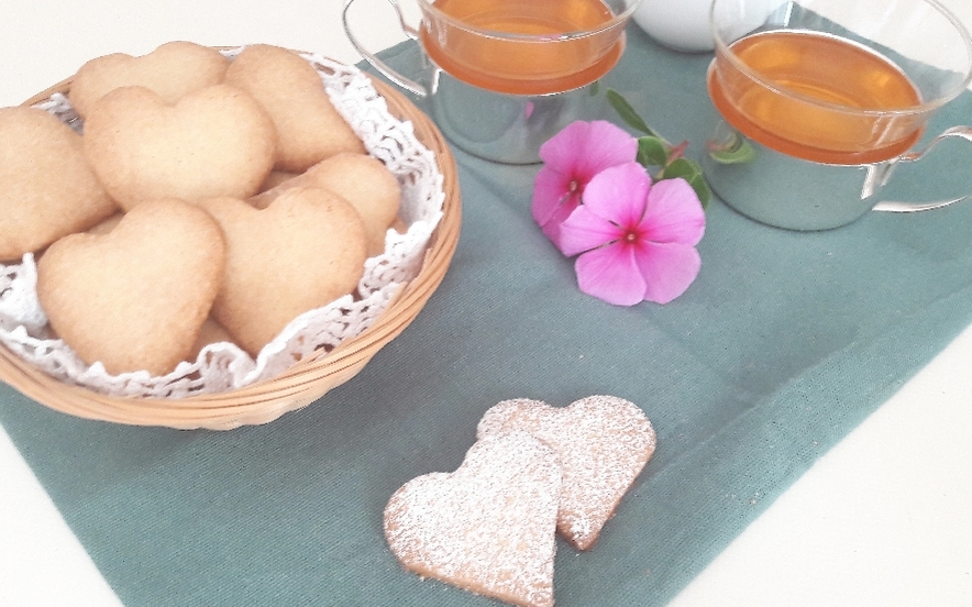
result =
[{"label": "white crocheted lace doily lining the wicker cookie basket", "polygon": [[[225,55],[232,57],[241,49]],[[330,350],[367,329],[398,288],[419,273],[442,217],[443,176],[435,155],[415,136],[412,124],[388,112],[384,98],[360,69],[313,54],[302,56],[318,70],[331,101],[368,153],[385,163],[401,186],[399,217],[408,230],[387,232],[385,252],[365,263],[357,297],[344,296],[294,319],[256,360],[234,344],[217,343],[206,346],[195,362],[180,363],[162,377],[147,372],[109,375],[100,363],[88,366],[63,340],[51,339],[37,301],[34,257],[27,254],[20,264],[0,264],[0,342],[62,382],[115,396],[180,398],[273,377],[307,354]],[[37,107],[82,130],[64,95],[56,93]]]}]

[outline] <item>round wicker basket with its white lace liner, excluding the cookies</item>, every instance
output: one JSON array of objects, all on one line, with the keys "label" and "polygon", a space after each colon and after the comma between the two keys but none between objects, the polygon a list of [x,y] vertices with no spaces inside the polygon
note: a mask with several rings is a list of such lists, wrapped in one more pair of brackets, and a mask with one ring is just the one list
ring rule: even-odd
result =
[{"label": "round wicker basket with its white lace liner, excluding the cookies", "polygon": [[[20,307],[11,318],[21,324],[12,330],[0,327],[8,349],[19,358],[0,361],[0,378],[66,413],[119,423],[228,430],[266,423],[317,400],[358,373],[408,327],[439,286],[459,236],[461,203],[451,151],[429,117],[393,87],[354,66],[300,56],[313,66],[355,132],[365,134],[371,153],[385,161],[404,185],[402,217],[408,219],[408,230],[390,242],[382,264],[365,268],[354,297],[341,297],[294,319],[266,355],[262,352],[254,360],[232,344],[214,344],[203,357],[161,376],[112,375],[101,365],[86,367],[53,331],[38,328],[46,320],[43,313],[36,314],[38,306]],[[73,120],[69,87],[66,80],[34,96],[30,103]],[[119,219],[90,230],[113,232]],[[35,260],[25,257],[7,267],[30,278],[35,275]],[[14,280],[16,300],[35,302],[34,285],[35,280]],[[395,297],[402,291],[407,297]],[[12,299],[4,298],[8,304]],[[363,334],[372,327],[376,331]],[[198,346],[213,341],[203,332]],[[349,347],[329,356],[339,344]],[[275,380],[285,369],[289,369],[287,378]],[[173,401],[179,406],[173,407]]]}]

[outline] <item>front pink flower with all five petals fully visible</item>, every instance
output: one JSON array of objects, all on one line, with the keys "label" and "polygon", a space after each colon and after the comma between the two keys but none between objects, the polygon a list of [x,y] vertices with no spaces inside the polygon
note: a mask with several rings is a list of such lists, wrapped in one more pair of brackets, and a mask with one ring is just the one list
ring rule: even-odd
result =
[{"label": "front pink flower with all five petals fully visible", "polygon": [[606,168],[584,188],[584,203],[561,224],[560,246],[582,291],[617,306],[667,304],[688,288],[702,260],[695,245],[705,212],[684,179],[651,183],[631,162]]}]

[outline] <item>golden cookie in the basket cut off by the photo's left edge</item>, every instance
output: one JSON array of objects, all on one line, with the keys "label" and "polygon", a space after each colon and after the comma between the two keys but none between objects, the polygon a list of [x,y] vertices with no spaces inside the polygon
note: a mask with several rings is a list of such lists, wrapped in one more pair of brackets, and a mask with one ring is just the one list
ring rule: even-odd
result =
[{"label": "golden cookie in the basket cut off by the photo's left edge", "polygon": [[117,210],[81,137],[36,108],[0,109],[0,260],[19,260]]}]

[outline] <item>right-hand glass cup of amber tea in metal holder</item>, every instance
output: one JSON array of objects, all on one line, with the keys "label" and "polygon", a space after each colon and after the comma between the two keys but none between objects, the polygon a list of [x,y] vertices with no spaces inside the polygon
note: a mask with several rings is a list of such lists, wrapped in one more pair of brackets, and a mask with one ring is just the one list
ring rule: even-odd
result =
[{"label": "right-hand glass cup of amber tea in metal holder", "polygon": [[783,228],[835,228],[874,207],[972,78],[969,33],[934,0],[715,0],[711,23],[706,84],[725,124],[710,147],[736,137],[756,154],[706,158],[707,176],[729,206]]}]

